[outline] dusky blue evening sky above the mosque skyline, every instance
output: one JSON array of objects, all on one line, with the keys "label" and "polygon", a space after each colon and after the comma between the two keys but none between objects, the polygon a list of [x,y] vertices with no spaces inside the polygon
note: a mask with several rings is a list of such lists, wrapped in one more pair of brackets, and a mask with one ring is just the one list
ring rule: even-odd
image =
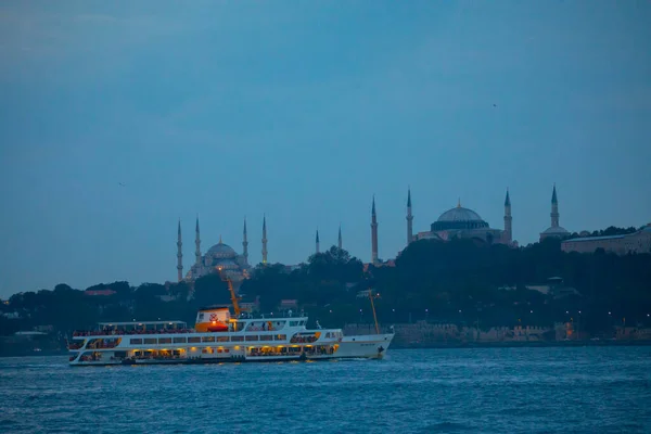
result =
[{"label": "dusky blue evening sky above the mosque skyline", "polygon": [[[458,199],[537,241],[651,222],[646,1],[0,3],[0,297],[176,280],[194,219],[250,261],[380,257]],[[122,184],[120,184],[122,183]]]}]

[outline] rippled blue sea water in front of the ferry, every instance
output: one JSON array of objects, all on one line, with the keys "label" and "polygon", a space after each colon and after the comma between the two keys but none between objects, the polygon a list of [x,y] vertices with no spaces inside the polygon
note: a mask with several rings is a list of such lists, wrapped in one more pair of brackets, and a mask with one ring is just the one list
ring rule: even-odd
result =
[{"label": "rippled blue sea water in front of the ferry", "polygon": [[1,358],[0,433],[651,433],[651,347],[75,368]]}]

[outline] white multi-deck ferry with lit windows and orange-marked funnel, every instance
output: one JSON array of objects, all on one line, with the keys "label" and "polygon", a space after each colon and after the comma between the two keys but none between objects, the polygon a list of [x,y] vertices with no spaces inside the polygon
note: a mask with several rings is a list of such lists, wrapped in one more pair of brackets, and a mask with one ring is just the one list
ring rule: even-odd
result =
[{"label": "white multi-deck ferry with lit windows and orange-marked funnel", "polygon": [[[308,317],[254,318],[242,314],[229,282],[228,306],[199,310],[194,329],[183,321],[100,322],[68,342],[71,366],[221,363],[228,361],[380,359],[394,337],[380,333],[345,336],[341,329],[307,329]],[[369,293],[371,305],[373,295]]]}]

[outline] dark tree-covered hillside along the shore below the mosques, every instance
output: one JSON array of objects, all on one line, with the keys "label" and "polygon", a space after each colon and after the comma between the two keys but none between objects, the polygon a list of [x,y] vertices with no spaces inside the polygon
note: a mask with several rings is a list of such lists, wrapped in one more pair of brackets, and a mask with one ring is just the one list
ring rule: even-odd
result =
[{"label": "dark tree-covered hillside along the shore below the mosques", "polygon": [[[69,332],[99,321],[183,320],[194,323],[197,308],[228,304],[227,284],[217,275],[188,283],[101,283],[87,290],[112,290],[106,296],[58,284],[52,291],[13,295],[2,305],[21,319],[0,320],[0,333],[51,324]],[[282,299],[323,327],[370,323],[372,289],[383,323],[429,322],[495,326],[552,326],[580,320],[582,329],[605,332],[613,326],[651,324],[651,254],[564,253],[560,241],[544,240],[511,248],[477,245],[472,240],[411,243],[395,266],[368,266],[333,246],[288,270],[282,264],[252,270],[240,288],[243,301],[259,302],[271,315]],[[191,296],[190,296],[191,295]],[[314,322],[312,322],[314,324]]]}]

